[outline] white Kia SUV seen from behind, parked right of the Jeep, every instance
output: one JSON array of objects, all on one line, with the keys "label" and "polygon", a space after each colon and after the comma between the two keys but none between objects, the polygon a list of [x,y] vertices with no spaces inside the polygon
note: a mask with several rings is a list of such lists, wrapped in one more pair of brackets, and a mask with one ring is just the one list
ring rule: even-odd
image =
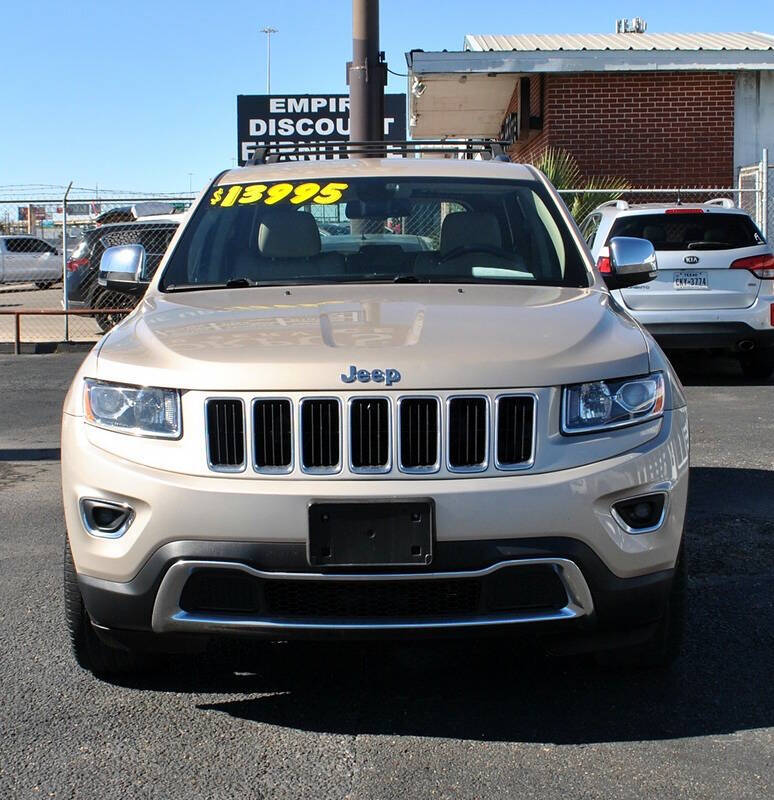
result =
[{"label": "white Kia SUV seen from behind, parked right of the Jeep", "polygon": [[654,281],[614,297],[664,348],[736,354],[746,377],[774,370],[774,256],[749,215],[731,200],[703,204],[605,203],[581,223],[599,270],[614,236],[652,242]]}]

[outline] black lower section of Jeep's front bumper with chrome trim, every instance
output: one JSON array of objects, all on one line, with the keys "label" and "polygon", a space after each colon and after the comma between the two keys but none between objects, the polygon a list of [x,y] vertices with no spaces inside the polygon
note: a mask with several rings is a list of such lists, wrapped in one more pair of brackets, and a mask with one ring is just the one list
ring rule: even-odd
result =
[{"label": "black lower section of Jeep's front bumper with chrome trim", "polygon": [[[265,581],[321,580],[342,585],[367,581],[405,583],[418,581],[469,581],[504,570],[552,565],[566,588],[563,605],[553,609],[519,611],[481,609],[480,613],[429,618],[402,617],[304,619],[276,615],[247,616],[235,611],[183,609],[185,585],[193,574],[209,570],[239,570]],[[282,571],[277,567],[282,565]],[[514,572],[517,575],[518,572]],[[587,545],[575,539],[539,539],[447,542],[438,545],[431,570],[410,574],[320,574],[306,561],[302,545],[243,542],[178,541],[157,550],[138,575],[126,583],[79,575],[78,581],[89,615],[103,633],[249,634],[264,638],[369,638],[371,635],[444,634],[528,628],[530,632],[620,631],[648,625],[666,608],[674,570],[660,570],[634,578],[618,578]],[[485,583],[483,583],[485,586]],[[487,594],[484,588],[484,595]],[[524,626],[522,623],[529,623]],[[120,640],[120,639],[119,639]]]}]

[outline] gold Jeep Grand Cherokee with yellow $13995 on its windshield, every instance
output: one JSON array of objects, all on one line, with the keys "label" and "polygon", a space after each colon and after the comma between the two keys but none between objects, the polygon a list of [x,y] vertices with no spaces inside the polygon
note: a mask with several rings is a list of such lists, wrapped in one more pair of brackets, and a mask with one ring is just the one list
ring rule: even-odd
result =
[{"label": "gold Jeep Grand Cherokee with yellow $13995 on its windshield", "polygon": [[78,662],[455,632],[668,661],[685,399],[609,293],[654,276],[651,244],[613,239],[603,280],[503,157],[254,162],[149,284],[141,245],[102,258],[144,296],[64,406]]}]

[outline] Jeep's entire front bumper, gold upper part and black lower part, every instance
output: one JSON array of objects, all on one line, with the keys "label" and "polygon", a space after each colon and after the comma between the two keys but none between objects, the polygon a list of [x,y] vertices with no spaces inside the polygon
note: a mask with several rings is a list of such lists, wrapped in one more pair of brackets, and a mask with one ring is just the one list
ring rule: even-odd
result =
[{"label": "Jeep's entire front bumper, gold upper part and black lower part", "polygon": [[[685,409],[666,413],[653,439],[614,458],[555,472],[467,480],[247,481],[182,475],[105,452],[89,442],[82,420],[69,415],[62,439],[65,516],[74,561],[87,610],[106,629],[286,638],[517,624],[567,630],[642,625],[663,612],[682,537],[688,482]],[[648,533],[627,533],[612,515],[612,504],[656,491],[668,496],[662,524]],[[82,497],[127,503],[134,521],[120,538],[92,536],[79,513]],[[401,574],[315,572],[306,557],[308,504],[387,497],[432,498],[432,564]],[[406,581],[407,589],[413,586],[420,595],[422,582],[470,578],[480,582],[485,599],[489,576],[538,564],[552,570],[566,592],[566,601],[550,609],[527,604],[493,611],[482,600],[457,616],[289,619],[264,610],[205,613],[180,602],[187,579],[205,569],[234,570],[252,576],[256,586],[280,580]]]}]

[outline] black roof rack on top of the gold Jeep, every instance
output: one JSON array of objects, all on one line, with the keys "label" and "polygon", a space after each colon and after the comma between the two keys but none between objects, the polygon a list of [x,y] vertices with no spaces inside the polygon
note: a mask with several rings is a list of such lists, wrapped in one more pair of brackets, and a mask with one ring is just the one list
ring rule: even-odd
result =
[{"label": "black roof rack on top of the gold Jeep", "polygon": [[270,164],[278,161],[300,161],[305,156],[328,158],[350,158],[351,156],[372,156],[385,158],[391,155],[408,156],[422,153],[462,154],[465,158],[481,155],[485,160],[510,161],[505,153],[512,142],[500,139],[412,139],[383,142],[350,142],[330,140],[308,143],[281,143],[256,147],[253,155],[245,162],[246,166]]}]

